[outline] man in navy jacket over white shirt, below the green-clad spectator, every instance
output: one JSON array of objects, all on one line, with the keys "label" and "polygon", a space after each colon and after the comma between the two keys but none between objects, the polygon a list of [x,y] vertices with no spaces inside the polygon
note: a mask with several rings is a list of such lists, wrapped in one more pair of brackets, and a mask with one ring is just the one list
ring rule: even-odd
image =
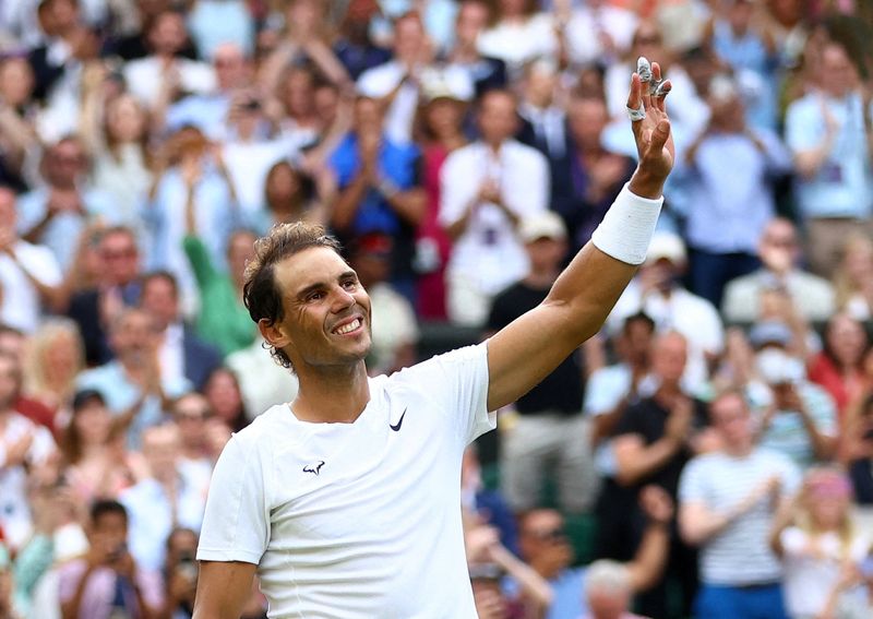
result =
[{"label": "man in navy jacket over white shirt, below the green-clad spectator", "polygon": [[194,335],[182,321],[176,278],[160,271],[145,275],[140,307],[153,319],[160,380],[169,384],[187,380],[195,388],[203,385],[210,372],[222,364],[222,354]]}]

